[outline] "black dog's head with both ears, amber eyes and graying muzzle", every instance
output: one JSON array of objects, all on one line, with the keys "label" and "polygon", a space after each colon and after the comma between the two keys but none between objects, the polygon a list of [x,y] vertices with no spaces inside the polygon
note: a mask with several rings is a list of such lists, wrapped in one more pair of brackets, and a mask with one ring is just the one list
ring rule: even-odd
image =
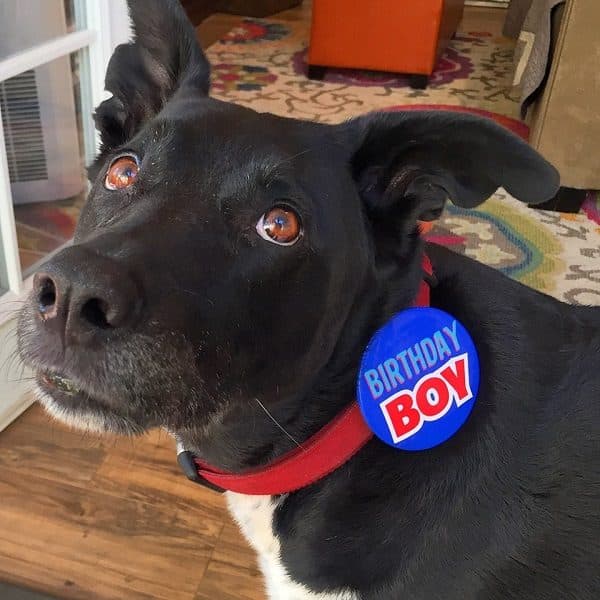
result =
[{"label": "black dog's head with both ears, amber eyes and graying muzzle", "polygon": [[[35,277],[20,349],[52,413],[99,430],[209,434],[259,399],[356,366],[419,279],[418,220],[554,169],[493,122],[370,114],[323,125],[208,97],[176,0],[131,0],[74,245]],[[200,435],[200,433],[198,433]]]}]

